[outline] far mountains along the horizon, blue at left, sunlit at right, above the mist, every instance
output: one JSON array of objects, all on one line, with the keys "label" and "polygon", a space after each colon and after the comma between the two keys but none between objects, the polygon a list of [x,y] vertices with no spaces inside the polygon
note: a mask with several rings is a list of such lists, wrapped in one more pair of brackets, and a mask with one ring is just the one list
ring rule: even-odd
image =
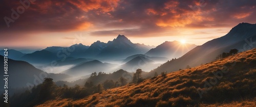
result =
[{"label": "far mountains along the horizon, blue at left, sunlit at right, above the mist", "polygon": [[[177,45],[178,44],[178,45]],[[181,47],[178,41],[166,41],[156,48],[143,44],[134,44],[124,35],[118,35],[113,41],[104,43],[94,42],[91,46],[75,44],[70,47],[47,47],[33,53],[24,54],[10,50],[10,58],[24,60],[32,64],[47,64],[56,60],[66,60],[67,57],[89,58],[98,60],[121,60],[132,55],[145,54],[155,61],[166,61],[170,57],[179,57],[196,45],[184,44]],[[186,46],[186,49],[184,48]],[[152,49],[153,48],[153,49]],[[1,50],[3,51],[3,50]],[[3,52],[1,53],[3,55]],[[166,59],[165,59],[166,58]],[[126,62],[128,60],[126,59]]]}]

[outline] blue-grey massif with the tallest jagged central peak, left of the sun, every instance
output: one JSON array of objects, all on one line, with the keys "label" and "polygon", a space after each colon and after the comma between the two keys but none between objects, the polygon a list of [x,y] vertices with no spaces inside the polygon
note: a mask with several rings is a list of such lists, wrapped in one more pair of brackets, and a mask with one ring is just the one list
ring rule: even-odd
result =
[{"label": "blue-grey massif with the tallest jagged central peak, left of the sun", "polygon": [[67,56],[77,58],[96,58],[96,59],[109,59],[109,58],[124,58],[129,55],[142,54],[150,50],[150,46],[143,44],[133,44],[131,40],[124,35],[118,35],[113,41],[104,43],[101,41],[94,42],[91,46],[84,46],[82,44],[75,44],[70,47],[47,47],[44,50],[53,52],[55,54],[65,53],[68,51]]}]

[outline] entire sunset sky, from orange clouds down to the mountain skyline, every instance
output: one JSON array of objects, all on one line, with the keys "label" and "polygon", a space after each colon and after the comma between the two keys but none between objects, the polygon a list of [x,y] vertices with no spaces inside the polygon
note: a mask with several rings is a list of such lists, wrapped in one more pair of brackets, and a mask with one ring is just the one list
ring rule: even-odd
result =
[{"label": "entire sunset sky, from orange clouds down to the mountain skyline", "polygon": [[125,35],[134,43],[202,45],[234,26],[256,23],[256,1],[2,0],[0,47],[90,46]]}]

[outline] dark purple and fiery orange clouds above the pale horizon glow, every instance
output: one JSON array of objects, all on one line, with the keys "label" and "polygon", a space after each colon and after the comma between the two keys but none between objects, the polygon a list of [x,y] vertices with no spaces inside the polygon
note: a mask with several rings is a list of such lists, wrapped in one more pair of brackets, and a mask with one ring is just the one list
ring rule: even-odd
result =
[{"label": "dark purple and fiery orange clouds above the pale horizon glow", "polygon": [[0,2],[2,35],[87,31],[91,36],[178,36],[177,29],[230,28],[256,19],[254,0],[21,1]]}]

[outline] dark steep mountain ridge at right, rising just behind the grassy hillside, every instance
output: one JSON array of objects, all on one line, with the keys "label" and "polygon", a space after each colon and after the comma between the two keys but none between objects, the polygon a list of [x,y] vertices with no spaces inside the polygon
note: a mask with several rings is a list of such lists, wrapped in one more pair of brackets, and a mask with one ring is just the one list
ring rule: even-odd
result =
[{"label": "dark steep mountain ridge at right, rising just behind the grassy hillside", "polygon": [[[241,23],[232,28],[226,35],[207,41],[202,46],[198,46],[182,57],[164,63],[153,72],[177,71],[190,67],[199,66],[204,63],[214,61],[217,55],[228,52],[230,49],[246,51],[256,48],[256,24]],[[152,74],[153,74],[152,72]]]}]

